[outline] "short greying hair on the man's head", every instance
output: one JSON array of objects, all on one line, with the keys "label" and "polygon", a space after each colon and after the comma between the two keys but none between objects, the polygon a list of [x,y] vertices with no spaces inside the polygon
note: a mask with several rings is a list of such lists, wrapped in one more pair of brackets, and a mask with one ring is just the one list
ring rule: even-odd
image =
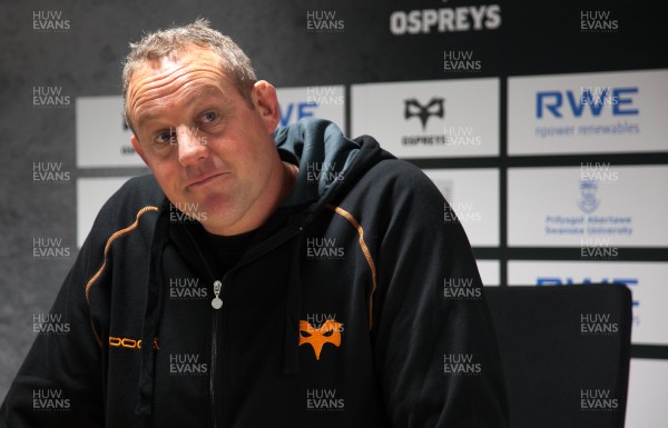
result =
[{"label": "short greying hair on the man's head", "polygon": [[128,118],[127,97],[132,73],[147,61],[174,56],[189,46],[208,48],[218,54],[227,78],[232,80],[242,97],[252,103],[250,92],[257,78],[250,60],[229,37],[212,29],[208,20],[198,18],[195,22],[183,27],[147,33],[138,42],[130,43],[130,52],[122,68],[122,110],[130,129],[132,126]]}]

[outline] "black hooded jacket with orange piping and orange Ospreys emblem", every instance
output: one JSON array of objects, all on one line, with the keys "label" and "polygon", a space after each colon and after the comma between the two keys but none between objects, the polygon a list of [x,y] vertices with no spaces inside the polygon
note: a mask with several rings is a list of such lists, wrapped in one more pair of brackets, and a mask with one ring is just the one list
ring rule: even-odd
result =
[{"label": "black hooded jacket with orange piping and orange Ospreys emblem", "polygon": [[507,426],[475,261],[430,179],[323,120],[275,141],[297,182],[229,262],[234,237],[153,176],[107,201],[0,427]]}]

